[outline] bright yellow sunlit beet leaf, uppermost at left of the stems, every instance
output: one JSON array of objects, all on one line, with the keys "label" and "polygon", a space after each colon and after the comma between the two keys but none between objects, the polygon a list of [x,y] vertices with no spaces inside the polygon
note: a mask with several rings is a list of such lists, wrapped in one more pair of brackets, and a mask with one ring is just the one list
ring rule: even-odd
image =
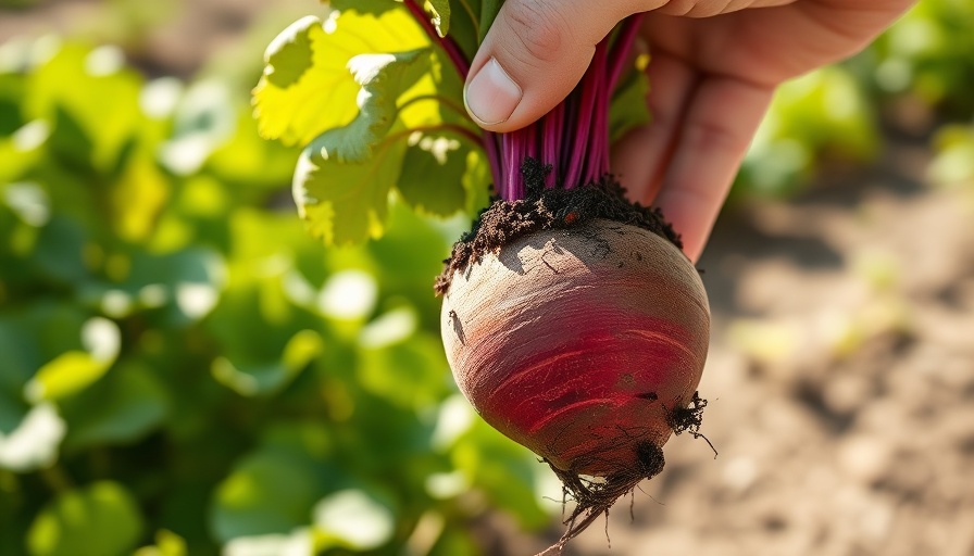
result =
[{"label": "bright yellow sunlit beet leaf, uppermost at left of the stems", "polygon": [[[253,91],[261,136],[285,144],[308,144],[348,125],[359,111],[360,83],[349,63],[361,54],[428,47],[429,40],[404,10],[333,12],[324,24],[308,16],[267,47],[266,68]],[[361,61],[360,61],[361,63]],[[401,91],[392,92],[392,99]]]}]

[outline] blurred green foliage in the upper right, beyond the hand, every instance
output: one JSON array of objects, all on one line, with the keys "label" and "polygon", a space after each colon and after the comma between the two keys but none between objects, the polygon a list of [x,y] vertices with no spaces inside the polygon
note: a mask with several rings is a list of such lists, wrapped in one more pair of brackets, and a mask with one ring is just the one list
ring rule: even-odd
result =
[{"label": "blurred green foliage in the upper right, beyond the hand", "polygon": [[[974,2],[921,0],[858,56],[781,87],[734,197],[787,197],[832,163],[872,163],[886,127],[927,136],[936,122],[970,119],[972,88]],[[888,117],[897,104],[919,129]]]}]

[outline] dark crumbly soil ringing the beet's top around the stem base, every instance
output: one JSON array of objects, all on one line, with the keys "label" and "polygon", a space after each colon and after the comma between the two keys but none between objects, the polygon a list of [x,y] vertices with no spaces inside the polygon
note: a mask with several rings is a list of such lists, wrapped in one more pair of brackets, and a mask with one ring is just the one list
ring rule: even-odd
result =
[{"label": "dark crumbly soil ringing the beet's top around the stem base", "polygon": [[679,235],[659,208],[629,202],[625,190],[607,175],[597,184],[574,189],[546,189],[550,166],[527,159],[521,167],[527,194],[517,201],[495,200],[474,220],[472,229],[453,244],[444,271],[434,286],[437,295],[450,289],[453,273],[464,271],[488,253],[497,253],[517,238],[541,230],[577,227],[595,218],[647,229],[683,249]]}]

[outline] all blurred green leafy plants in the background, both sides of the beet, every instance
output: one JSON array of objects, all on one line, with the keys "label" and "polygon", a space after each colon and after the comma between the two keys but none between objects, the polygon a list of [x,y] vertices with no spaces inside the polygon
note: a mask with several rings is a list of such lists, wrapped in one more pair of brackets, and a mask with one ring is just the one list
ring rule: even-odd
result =
[{"label": "all blurred green leafy plants in the background, both sides of the beet", "polygon": [[[47,20],[75,3],[99,15]],[[497,554],[554,530],[557,483],[441,353],[432,278],[469,217],[394,198],[373,242],[309,237],[299,152],[258,137],[249,92],[270,38],[326,9],[253,4],[184,27],[235,40],[180,58],[147,37],[185,5],[0,2],[58,29],[0,27],[0,554]],[[728,211],[890,136],[970,187],[972,37],[974,4],[923,0],[788,84]]]}]

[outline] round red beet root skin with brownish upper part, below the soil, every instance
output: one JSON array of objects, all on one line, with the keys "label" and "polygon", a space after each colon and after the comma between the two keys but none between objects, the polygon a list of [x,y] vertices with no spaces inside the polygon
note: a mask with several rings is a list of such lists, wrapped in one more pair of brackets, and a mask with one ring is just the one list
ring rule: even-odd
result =
[{"label": "round red beet root skin with brownish upper part, below the soil", "polygon": [[639,469],[692,399],[710,313],[686,256],[611,220],[515,240],[453,276],[442,336],[491,426],[572,473]]}]

